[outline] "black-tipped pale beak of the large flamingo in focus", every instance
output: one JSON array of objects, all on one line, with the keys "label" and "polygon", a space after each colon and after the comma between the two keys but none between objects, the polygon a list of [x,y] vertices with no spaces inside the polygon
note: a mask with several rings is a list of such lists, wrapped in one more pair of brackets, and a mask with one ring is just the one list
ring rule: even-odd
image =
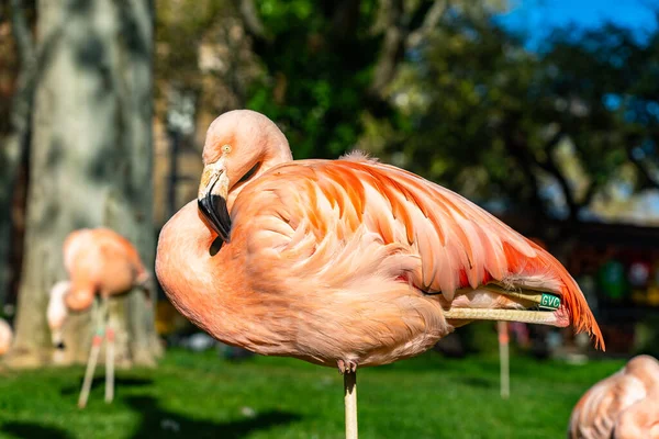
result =
[{"label": "black-tipped pale beak of the large flamingo in focus", "polygon": [[222,240],[228,243],[231,233],[231,216],[226,207],[228,178],[223,165],[220,160],[203,168],[197,204],[212,229]]}]

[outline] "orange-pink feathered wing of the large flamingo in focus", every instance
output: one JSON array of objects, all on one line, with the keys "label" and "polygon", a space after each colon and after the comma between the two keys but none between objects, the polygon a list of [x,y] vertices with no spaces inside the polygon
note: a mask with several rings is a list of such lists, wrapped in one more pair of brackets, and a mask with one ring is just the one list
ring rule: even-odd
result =
[{"label": "orange-pink feathered wing of the large flamingo in focus", "polygon": [[601,344],[583,294],[551,255],[465,198],[393,166],[361,157],[281,165],[244,189],[232,219],[232,236],[248,236],[259,270],[282,262],[324,272],[332,283],[364,269],[449,302],[459,289],[488,283],[552,292],[574,327]]}]

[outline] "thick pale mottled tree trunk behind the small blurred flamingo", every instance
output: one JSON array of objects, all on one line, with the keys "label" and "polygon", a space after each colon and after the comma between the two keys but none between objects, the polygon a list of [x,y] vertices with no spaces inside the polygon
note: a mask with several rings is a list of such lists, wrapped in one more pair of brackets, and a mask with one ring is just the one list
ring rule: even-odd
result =
[{"label": "thick pale mottled tree trunk behind the small blurred flamingo", "polygon": [[[152,0],[40,0],[38,69],[23,278],[10,365],[53,358],[48,291],[66,279],[62,245],[105,225],[154,263]],[[120,365],[154,364],[154,312],[136,291],[113,300]],[[65,326],[66,362],[85,362],[89,313]]]}]

